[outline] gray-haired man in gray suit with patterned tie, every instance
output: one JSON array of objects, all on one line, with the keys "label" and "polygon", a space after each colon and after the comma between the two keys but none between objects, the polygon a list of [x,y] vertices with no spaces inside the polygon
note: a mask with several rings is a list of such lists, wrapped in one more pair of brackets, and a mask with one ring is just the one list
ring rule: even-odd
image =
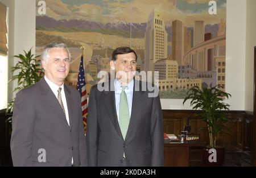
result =
[{"label": "gray-haired man in gray suit with patterned tie", "polygon": [[48,44],[42,52],[45,76],[16,95],[11,135],[14,166],[87,165],[81,97],[64,84],[70,59],[65,44]]}]

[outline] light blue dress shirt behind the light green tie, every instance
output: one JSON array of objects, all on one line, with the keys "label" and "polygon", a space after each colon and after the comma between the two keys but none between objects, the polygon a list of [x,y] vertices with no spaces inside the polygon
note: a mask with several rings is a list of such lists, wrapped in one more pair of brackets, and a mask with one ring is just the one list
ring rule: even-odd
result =
[{"label": "light blue dress shirt behind the light green tie", "polygon": [[[134,86],[134,80],[130,81],[129,84],[127,84],[127,88],[125,89],[128,106],[129,106],[130,118],[131,118],[131,107],[133,105],[133,86]],[[122,85],[116,79],[114,80],[114,88],[115,88],[115,109],[117,110],[117,118],[119,122],[119,102],[120,102],[120,95],[122,92]]]}]

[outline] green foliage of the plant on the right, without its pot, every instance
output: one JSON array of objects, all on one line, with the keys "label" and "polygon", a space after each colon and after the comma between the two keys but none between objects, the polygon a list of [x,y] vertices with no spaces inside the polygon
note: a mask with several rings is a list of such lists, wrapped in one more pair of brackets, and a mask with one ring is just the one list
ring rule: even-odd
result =
[{"label": "green foliage of the plant on the right, without its pot", "polygon": [[199,117],[207,124],[207,127],[200,130],[208,130],[210,137],[210,147],[216,147],[215,143],[218,133],[229,133],[229,129],[225,126],[230,119],[225,117],[222,110],[229,110],[228,104],[223,102],[224,98],[231,97],[231,94],[217,89],[204,88],[201,90],[199,86],[193,86],[187,92],[187,97],[184,98],[183,105],[187,100],[191,100],[190,106],[193,110],[201,109]]}]

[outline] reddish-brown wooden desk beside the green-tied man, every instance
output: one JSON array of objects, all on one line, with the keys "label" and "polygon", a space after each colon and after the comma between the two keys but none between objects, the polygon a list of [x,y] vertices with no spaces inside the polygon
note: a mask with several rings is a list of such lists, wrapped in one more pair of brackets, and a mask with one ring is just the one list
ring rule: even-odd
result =
[{"label": "reddish-brown wooden desk beside the green-tied man", "polygon": [[205,142],[164,143],[164,166],[189,166],[189,148],[205,146]]}]

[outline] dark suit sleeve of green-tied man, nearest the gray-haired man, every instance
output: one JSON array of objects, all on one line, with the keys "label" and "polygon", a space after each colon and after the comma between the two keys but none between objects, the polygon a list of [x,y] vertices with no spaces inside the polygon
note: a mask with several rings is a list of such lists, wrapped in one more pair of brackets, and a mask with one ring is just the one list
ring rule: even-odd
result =
[{"label": "dark suit sleeve of green-tied man, nearest the gray-haired man", "polygon": [[98,122],[97,122],[97,104],[96,92],[97,88],[90,90],[88,119],[86,129],[86,146],[88,155],[88,165],[97,166],[97,150],[98,150]]}]

